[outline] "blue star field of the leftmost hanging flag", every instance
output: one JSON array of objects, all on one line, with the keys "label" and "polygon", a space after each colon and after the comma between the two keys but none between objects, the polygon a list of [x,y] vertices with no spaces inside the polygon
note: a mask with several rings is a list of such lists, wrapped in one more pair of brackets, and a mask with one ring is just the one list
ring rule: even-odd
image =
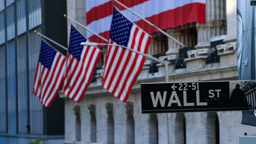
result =
[{"label": "blue star field of the leftmost hanging flag", "polygon": [[52,48],[49,44],[42,40],[39,62],[41,62],[42,65],[50,70],[56,53],[57,51],[54,50],[54,48]]}]

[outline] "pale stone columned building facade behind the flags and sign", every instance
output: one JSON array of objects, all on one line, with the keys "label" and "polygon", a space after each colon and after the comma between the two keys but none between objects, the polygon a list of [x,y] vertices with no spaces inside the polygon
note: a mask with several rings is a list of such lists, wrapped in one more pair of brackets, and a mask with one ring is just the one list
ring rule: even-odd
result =
[{"label": "pale stone columned building facade behind the flags and sign", "polygon": [[[67,14],[83,24],[84,9],[85,0],[67,0]],[[169,61],[169,81],[238,79],[236,0],[206,0],[206,24],[191,23],[166,31],[193,47],[185,51],[184,63],[177,65],[183,52],[180,46],[167,38],[152,41],[149,54],[165,52],[159,58]],[[65,144],[167,144],[166,114],[141,114],[140,83],[165,81],[164,66],[156,64],[158,70],[154,71],[151,63],[145,61],[127,103],[103,89],[102,69],[97,70],[96,81],[80,103],[61,94]],[[239,144],[239,135],[256,133],[255,127],[242,125],[241,118],[241,111],[171,113],[171,139],[173,144]]]}]

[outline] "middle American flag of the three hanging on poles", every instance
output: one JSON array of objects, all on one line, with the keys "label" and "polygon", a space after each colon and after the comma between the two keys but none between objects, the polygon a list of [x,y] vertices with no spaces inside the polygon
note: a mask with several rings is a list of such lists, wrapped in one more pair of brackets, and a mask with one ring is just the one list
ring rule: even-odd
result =
[{"label": "middle American flag of the three hanging on poles", "polygon": [[71,26],[63,94],[76,102],[80,102],[91,83],[93,72],[101,54],[99,48],[80,45],[81,42],[85,41],[87,39]]}]

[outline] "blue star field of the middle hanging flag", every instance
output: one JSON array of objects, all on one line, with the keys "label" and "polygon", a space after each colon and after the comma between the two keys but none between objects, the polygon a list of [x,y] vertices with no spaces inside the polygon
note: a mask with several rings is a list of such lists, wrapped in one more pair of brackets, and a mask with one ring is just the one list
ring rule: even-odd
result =
[{"label": "blue star field of the middle hanging flag", "polygon": [[78,61],[80,61],[83,46],[81,42],[85,42],[87,39],[71,25],[70,37],[69,37],[69,53],[72,54]]}]

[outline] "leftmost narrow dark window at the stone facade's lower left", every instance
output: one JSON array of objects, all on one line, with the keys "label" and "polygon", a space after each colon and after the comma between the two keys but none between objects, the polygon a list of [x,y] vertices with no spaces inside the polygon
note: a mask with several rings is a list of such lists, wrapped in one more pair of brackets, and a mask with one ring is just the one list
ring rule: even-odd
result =
[{"label": "leftmost narrow dark window at the stone facade's lower left", "polygon": [[81,118],[80,118],[80,106],[76,105],[74,107],[76,115],[76,141],[81,141]]}]

